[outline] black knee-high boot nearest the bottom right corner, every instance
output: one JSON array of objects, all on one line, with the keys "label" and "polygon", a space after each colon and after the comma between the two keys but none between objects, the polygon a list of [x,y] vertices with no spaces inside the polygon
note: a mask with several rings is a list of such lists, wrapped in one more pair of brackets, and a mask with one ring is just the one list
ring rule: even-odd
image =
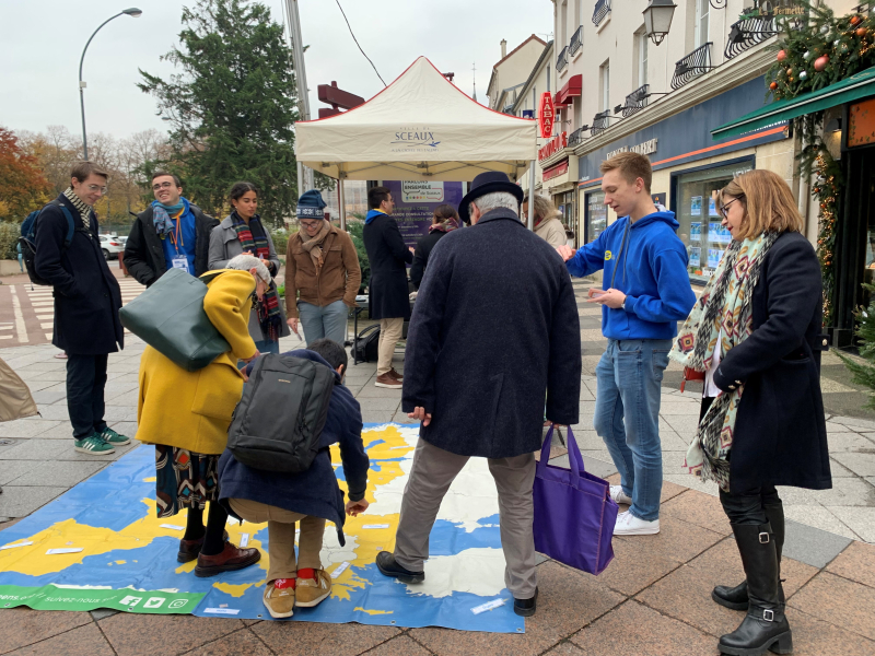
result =
[{"label": "black knee-high boot nearest the bottom right corner", "polygon": [[780,598],[778,552],[769,524],[733,524],[735,543],[747,577],[747,616],[732,633],[721,636],[718,648],[731,656],[759,656],[793,652],[793,635]]}]

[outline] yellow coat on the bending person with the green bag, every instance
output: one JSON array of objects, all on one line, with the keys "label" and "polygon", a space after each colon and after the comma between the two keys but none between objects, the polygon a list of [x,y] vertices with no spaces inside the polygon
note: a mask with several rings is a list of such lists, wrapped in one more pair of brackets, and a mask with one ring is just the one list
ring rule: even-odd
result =
[{"label": "yellow coat on the bending person with the green bag", "polygon": [[147,347],[140,360],[137,440],[218,455],[228,444],[231,415],[243,394],[237,360],[256,351],[248,329],[255,279],[247,271],[226,269],[207,288],[203,311],[231,350],[202,370],[187,372]]}]

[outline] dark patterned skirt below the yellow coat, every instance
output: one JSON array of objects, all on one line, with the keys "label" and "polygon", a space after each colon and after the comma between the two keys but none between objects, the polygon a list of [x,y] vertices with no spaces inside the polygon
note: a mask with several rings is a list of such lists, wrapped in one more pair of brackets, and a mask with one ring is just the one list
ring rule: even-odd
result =
[{"label": "dark patterned skirt below the yellow coat", "polygon": [[203,509],[219,499],[219,456],[155,445],[155,511],[172,517],[183,508]]}]

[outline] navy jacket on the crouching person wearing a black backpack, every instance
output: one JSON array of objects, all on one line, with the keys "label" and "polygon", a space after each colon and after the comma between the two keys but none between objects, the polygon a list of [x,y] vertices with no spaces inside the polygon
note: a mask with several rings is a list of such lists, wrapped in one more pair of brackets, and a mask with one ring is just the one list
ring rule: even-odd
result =
[{"label": "navy jacket on the crouching person wearing a black backpack", "polygon": [[[330,366],[318,353],[304,349],[289,351],[283,355]],[[337,484],[328,450],[335,443],[340,444],[340,459],[343,462],[350,501],[360,501],[368,487],[368,469],[371,462],[362,444],[362,412],[359,401],[340,384],[340,376],[328,405],[328,418],[322,432],[322,450],[310,469],[301,473],[253,469],[237,462],[231,452],[225,449],[219,459],[219,499],[248,499],[292,513],[324,517],[337,526],[338,539],[342,546],[346,519],[343,493]],[[231,511],[230,504],[225,503],[225,506]],[[231,514],[234,515],[233,512]]]}]

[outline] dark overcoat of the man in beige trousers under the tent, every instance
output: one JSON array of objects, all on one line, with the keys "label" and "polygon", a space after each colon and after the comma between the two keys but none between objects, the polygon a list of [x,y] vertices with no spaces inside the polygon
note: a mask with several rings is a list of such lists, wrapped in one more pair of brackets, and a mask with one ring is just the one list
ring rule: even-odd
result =
[{"label": "dark overcoat of the man in beige trousers under the tent", "polygon": [[410,318],[410,292],[407,267],[413,254],[404,243],[398,223],[380,214],[365,223],[362,232],[364,248],[371,262],[368,285],[368,312],[372,319]]}]

